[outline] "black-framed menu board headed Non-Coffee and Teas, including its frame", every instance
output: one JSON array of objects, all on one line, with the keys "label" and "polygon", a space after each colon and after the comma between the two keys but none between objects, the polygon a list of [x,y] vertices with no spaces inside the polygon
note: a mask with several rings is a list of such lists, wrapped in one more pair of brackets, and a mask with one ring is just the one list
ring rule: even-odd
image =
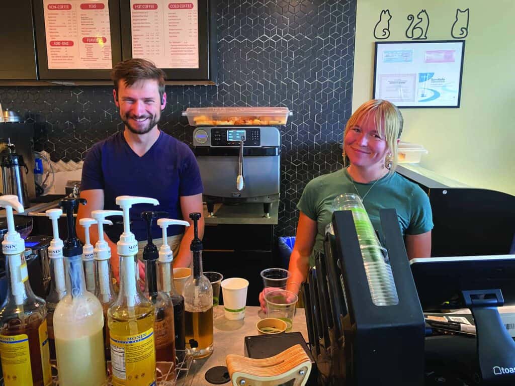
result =
[{"label": "black-framed menu board headed Non-Coffee and Teas, including its frame", "polygon": [[122,60],[118,0],[34,0],[42,80],[108,80]]}]

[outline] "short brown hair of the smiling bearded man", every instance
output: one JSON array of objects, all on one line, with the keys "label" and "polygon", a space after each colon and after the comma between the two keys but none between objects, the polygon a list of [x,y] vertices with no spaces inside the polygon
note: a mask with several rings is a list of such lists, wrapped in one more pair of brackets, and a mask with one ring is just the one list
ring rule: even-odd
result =
[{"label": "short brown hair of the smiling bearded man", "polygon": [[114,82],[116,97],[118,97],[118,82],[123,79],[126,86],[130,87],[139,80],[157,80],[159,86],[159,98],[163,100],[164,81],[166,74],[161,68],[146,59],[128,59],[117,63],[111,71],[111,80]]}]

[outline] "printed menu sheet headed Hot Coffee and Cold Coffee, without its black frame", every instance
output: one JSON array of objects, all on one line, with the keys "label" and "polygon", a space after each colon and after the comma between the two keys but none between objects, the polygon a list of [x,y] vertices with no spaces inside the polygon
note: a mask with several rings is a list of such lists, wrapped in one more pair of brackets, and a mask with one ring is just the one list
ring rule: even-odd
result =
[{"label": "printed menu sheet headed Hot Coffee and Cold Coffee, without its black frame", "polygon": [[199,68],[198,0],[131,0],[132,57]]}]

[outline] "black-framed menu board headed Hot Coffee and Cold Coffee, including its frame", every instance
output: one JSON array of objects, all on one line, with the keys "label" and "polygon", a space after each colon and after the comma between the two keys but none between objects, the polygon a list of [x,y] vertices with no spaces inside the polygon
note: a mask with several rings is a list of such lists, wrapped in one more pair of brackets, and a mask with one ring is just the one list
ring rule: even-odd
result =
[{"label": "black-framed menu board headed Hot Coffee and Cold Coffee, including its frame", "polygon": [[120,13],[124,60],[151,60],[168,81],[215,81],[213,0],[127,0]]}]

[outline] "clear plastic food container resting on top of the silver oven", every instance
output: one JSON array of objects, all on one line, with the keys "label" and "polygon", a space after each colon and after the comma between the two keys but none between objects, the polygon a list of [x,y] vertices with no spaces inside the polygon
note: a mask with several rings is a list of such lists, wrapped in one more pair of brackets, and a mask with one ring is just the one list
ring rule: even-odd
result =
[{"label": "clear plastic food container resting on top of the silver oven", "polygon": [[190,126],[286,125],[291,114],[286,107],[188,107],[182,112]]}]

